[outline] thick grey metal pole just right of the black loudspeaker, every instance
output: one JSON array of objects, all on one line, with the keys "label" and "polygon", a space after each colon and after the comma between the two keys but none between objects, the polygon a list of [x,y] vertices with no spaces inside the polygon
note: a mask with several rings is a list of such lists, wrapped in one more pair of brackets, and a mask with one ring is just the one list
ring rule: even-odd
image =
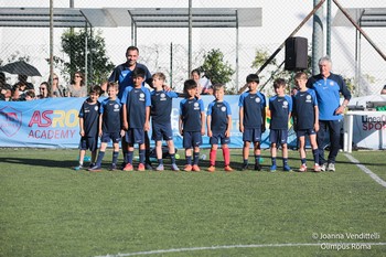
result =
[{"label": "thick grey metal pole just right of the black loudspeaker", "polygon": [[[317,6],[318,0],[313,0]],[[319,58],[323,55],[323,7],[319,8],[313,15],[312,32],[312,75],[319,73]]]}]

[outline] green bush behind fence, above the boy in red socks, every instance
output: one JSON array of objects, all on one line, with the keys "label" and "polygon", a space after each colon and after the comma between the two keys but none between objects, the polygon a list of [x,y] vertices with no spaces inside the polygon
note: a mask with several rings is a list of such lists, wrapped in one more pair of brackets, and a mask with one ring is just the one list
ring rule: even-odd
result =
[{"label": "green bush behind fence, above the boy in red socks", "polygon": [[218,49],[213,49],[204,55],[204,64],[201,69],[205,71],[205,76],[213,84],[226,84],[230,82],[232,75],[235,74],[228,62],[224,62],[224,54]]}]

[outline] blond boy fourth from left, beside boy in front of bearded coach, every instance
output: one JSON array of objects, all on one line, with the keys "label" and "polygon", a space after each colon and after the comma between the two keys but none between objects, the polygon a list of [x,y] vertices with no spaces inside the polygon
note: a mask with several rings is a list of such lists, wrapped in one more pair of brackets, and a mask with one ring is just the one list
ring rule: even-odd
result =
[{"label": "blond boy fourth from left, beside boy in front of bearded coach", "polygon": [[173,131],[170,115],[172,113],[173,98],[179,97],[175,92],[163,90],[163,85],[167,77],[163,73],[153,74],[153,87],[151,92],[151,124],[152,124],[152,139],[156,141],[156,153],[158,159],[158,167],[156,170],[163,171],[162,159],[162,139],[167,141],[169,148],[169,156],[172,163],[172,170],[179,171],[175,164],[175,148],[173,142]]}]

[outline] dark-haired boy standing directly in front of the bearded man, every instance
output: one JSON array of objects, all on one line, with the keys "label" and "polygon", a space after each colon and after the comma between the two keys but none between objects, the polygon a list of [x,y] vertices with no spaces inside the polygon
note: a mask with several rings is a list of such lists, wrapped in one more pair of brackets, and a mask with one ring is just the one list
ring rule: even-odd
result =
[{"label": "dark-haired boy standing directly in front of the bearded man", "polygon": [[138,171],[144,171],[144,131],[150,129],[150,106],[151,98],[148,88],[142,86],[146,71],[137,67],[132,72],[133,87],[127,87],[122,96],[122,120],[128,144],[127,163],[124,171],[132,171],[133,146],[138,143],[139,164]]}]

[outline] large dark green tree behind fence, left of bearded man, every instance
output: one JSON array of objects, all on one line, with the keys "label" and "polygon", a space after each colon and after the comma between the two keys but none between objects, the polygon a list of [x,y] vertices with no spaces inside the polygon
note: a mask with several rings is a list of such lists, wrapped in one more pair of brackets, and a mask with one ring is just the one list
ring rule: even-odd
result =
[{"label": "large dark green tree behind fence, left of bearded man", "polygon": [[88,84],[99,84],[106,79],[114,69],[115,65],[111,63],[106,54],[105,39],[101,32],[97,31],[93,36],[86,30],[66,30],[62,34],[62,49],[68,55],[69,61],[54,56],[54,65],[60,68],[63,74],[74,74],[79,71],[86,73],[85,65],[85,40],[87,36],[87,78]]}]

